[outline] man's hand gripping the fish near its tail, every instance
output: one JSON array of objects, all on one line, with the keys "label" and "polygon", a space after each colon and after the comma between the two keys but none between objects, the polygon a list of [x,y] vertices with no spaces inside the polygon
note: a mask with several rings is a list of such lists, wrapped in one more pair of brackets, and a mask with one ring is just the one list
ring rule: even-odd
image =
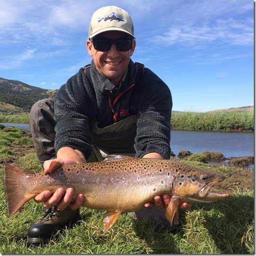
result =
[{"label": "man's hand gripping the fish near its tail", "polygon": [[[60,164],[75,164],[75,163],[77,163],[74,160],[62,159],[62,158],[47,160],[43,164],[44,173],[52,173],[54,171],[54,169],[52,169],[52,167],[50,168],[50,165],[53,161],[56,161]],[[51,191],[49,191],[49,190],[45,190],[42,193],[35,196],[34,200],[36,203],[43,202],[43,207],[45,207],[45,208],[51,208],[54,205],[57,205],[58,209],[63,210],[69,205],[72,210],[76,210],[81,205],[83,205],[84,195],[83,194],[77,195],[75,202],[71,203],[71,200],[74,196],[74,192],[75,191],[73,188],[68,188],[67,191],[65,191],[65,189],[63,189],[63,188],[58,188],[54,192],[54,194],[52,194]]]}]

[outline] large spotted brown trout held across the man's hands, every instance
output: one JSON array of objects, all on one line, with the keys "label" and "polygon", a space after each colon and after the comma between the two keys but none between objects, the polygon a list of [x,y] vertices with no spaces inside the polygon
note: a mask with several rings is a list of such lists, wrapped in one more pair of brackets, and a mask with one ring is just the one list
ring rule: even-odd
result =
[{"label": "large spotted brown trout held across the man's hands", "polygon": [[210,203],[228,194],[211,193],[211,187],[225,177],[171,160],[108,156],[102,162],[61,166],[52,162],[53,173],[32,173],[6,163],[4,190],[7,215],[12,216],[43,190],[74,188],[74,199],[84,194],[87,208],[108,211],[103,218],[107,231],[121,213],[133,212],[157,195],[172,195],[166,209],[170,223],[178,224],[181,202]]}]

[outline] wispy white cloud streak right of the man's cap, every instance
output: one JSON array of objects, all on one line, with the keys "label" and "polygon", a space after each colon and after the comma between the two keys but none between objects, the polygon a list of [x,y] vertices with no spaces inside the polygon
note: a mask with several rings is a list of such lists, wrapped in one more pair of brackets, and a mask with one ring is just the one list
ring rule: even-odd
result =
[{"label": "wispy white cloud streak right of the man's cap", "polygon": [[217,20],[211,25],[172,26],[168,32],[154,36],[153,41],[198,47],[211,42],[253,45],[253,19]]}]

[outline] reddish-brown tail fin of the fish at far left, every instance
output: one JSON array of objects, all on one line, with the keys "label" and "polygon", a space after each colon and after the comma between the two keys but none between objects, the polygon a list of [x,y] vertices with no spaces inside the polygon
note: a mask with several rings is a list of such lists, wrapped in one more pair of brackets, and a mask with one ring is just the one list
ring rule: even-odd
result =
[{"label": "reddish-brown tail fin of the fish at far left", "polygon": [[4,165],[4,191],[6,199],[7,216],[10,217],[28,202],[34,195],[25,193],[21,177],[27,172],[11,163]]}]

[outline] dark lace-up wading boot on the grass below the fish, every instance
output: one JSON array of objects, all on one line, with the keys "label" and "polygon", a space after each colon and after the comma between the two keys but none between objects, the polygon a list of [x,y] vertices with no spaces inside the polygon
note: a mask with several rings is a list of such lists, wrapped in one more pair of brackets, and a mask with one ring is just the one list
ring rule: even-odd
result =
[{"label": "dark lace-up wading boot on the grass below the fish", "polygon": [[79,209],[72,211],[68,206],[63,211],[54,206],[45,210],[43,217],[28,230],[28,244],[45,244],[65,227],[71,227],[81,220]]}]

